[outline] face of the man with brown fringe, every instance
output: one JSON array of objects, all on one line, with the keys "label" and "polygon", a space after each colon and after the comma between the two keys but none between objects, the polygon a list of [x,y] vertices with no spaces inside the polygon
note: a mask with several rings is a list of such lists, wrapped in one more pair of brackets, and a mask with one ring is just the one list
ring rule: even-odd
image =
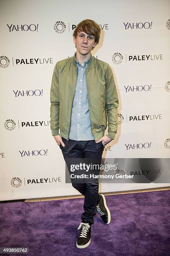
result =
[{"label": "face of the man with brown fringe", "polygon": [[96,46],[94,36],[83,31],[79,31],[76,38],[73,36],[73,41],[76,44],[77,51],[82,55],[88,54]]}]

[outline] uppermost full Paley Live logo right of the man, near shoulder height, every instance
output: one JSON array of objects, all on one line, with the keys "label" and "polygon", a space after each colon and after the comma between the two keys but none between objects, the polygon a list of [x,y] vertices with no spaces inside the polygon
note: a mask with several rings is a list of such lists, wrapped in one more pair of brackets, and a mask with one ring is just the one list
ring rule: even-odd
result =
[{"label": "uppermost full Paley Live logo right of the man, near shoulder height", "polygon": [[125,57],[120,52],[115,52],[112,57],[114,64],[121,64],[125,59],[125,62],[134,62],[134,61],[157,61],[163,60],[163,54],[142,54],[142,55],[130,55],[125,54]]}]

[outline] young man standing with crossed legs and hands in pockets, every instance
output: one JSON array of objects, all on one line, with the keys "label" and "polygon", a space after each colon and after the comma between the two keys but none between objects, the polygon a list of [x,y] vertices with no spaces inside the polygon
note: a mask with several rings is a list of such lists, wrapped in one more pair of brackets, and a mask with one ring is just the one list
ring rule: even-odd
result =
[{"label": "young man standing with crossed legs and hands in pockets", "polygon": [[[104,147],[117,132],[118,97],[112,70],[109,64],[91,54],[99,39],[97,23],[82,20],[73,33],[74,56],[58,61],[52,75],[50,128],[69,173],[70,159],[77,159],[77,163],[80,159],[93,159],[93,163],[101,164]],[[107,122],[108,134],[104,135]],[[86,248],[96,211],[105,224],[110,223],[110,211],[104,195],[98,194],[98,179],[72,182],[72,186],[85,196],[76,245]]]}]

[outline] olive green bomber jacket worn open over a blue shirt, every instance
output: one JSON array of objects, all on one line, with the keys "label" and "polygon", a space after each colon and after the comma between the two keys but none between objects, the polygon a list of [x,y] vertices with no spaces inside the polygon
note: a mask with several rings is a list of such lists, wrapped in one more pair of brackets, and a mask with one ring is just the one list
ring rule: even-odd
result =
[{"label": "olive green bomber jacket worn open over a blue shirt", "polygon": [[[117,90],[110,65],[91,56],[85,69],[91,132],[95,140],[104,136],[108,125],[109,138],[117,133]],[[77,84],[74,56],[58,61],[52,74],[50,89],[50,129],[52,136],[68,139],[72,102]],[[108,123],[107,123],[108,122]]]}]

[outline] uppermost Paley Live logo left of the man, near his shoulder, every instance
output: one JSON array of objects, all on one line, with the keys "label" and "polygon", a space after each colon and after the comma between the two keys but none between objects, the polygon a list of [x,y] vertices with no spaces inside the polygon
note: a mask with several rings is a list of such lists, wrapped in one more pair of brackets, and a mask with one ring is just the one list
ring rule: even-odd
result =
[{"label": "uppermost Paley Live logo left of the man, near his shoulder", "polygon": [[[13,67],[14,66],[20,66],[20,65],[36,65],[36,64],[53,64],[53,58],[26,58],[26,59],[15,59],[12,57],[12,63],[13,63]],[[10,65],[10,59],[5,56],[2,55],[0,56],[0,67],[1,68],[7,68]]]}]

